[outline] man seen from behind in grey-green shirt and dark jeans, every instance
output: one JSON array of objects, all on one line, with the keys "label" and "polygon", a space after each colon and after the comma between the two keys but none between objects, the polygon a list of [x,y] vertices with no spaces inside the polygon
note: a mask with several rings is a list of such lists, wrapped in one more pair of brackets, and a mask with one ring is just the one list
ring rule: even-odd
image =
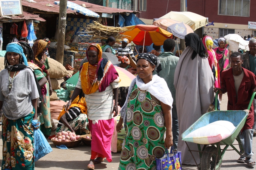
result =
[{"label": "man seen from behind in grey-green shirt and dark jeans", "polygon": [[179,138],[179,123],[176,109],[176,90],[173,85],[174,71],[178,63],[179,57],[173,54],[175,48],[175,41],[172,39],[166,39],[164,41],[164,52],[158,55],[161,62],[162,70],[159,72],[159,76],[164,78],[168,88],[172,93],[173,104],[172,104],[172,136],[173,136],[173,147],[177,149],[178,138]]}]

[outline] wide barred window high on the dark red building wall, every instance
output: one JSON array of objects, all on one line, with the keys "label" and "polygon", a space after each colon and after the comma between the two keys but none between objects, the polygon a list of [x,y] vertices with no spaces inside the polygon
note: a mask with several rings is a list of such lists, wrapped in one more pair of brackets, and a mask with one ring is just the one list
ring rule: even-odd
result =
[{"label": "wide barred window high on the dark red building wall", "polygon": [[219,14],[250,16],[250,0],[219,0]]}]

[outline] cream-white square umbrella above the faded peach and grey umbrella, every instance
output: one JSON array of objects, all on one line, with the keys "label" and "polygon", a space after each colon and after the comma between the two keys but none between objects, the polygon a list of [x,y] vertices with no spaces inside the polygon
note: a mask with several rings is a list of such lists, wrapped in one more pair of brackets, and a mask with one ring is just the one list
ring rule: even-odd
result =
[{"label": "cream-white square umbrella above the faded peach and grey umbrella", "polygon": [[190,26],[194,31],[208,24],[208,18],[193,12],[171,11],[160,18],[170,18],[176,21],[184,22],[185,24]]}]

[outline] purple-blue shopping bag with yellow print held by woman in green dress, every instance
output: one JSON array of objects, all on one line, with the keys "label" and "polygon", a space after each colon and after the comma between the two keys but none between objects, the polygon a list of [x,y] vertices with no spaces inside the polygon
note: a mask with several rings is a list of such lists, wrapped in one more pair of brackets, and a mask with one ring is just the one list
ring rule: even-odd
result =
[{"label": "purple-blue shopping bag with yellow print held by woman in green dress", "polygon": [[168,149],[166,148],[164,156],[160,159],[156,159],[156,170],[182,170],[181,152],[174,152],[172,146],[171,152],[168,153]]}]

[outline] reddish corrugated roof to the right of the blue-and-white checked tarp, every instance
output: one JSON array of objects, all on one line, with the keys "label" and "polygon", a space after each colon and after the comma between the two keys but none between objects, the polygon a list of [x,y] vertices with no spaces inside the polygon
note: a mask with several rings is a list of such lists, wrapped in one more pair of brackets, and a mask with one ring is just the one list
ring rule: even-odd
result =
[{"label": "reddish corrugated roof to the right of the blue-and-white checked tarp", "polygon": [[89,10],[93,11],[93,12],[98,12],[98,13],[108,13],[108,14],[112,14],[112,13],[132,13],[132,12],[136,12],[136,11],[130,11],[130,10],[123,10],[123,9],[118,9],[118,8],[110,8],[110,7],[106,7],[106,6],[100,6],[100,5],[95,5],[95,4],[91,4],[88,2],[84,2],[84,1],[71,1],[73,3],[76,3],[78,5],[81,4],[85,4],[86,8],[88,8]]}]

